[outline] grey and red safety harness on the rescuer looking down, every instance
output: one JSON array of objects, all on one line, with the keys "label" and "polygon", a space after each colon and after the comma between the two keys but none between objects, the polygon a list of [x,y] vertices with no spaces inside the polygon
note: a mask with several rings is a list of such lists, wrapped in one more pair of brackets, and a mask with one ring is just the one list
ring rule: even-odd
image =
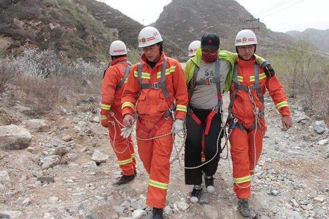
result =
[{"label": "grey and red safety harness on the rescuer looking down", "polygon": [[166,98],[167,104],[169,106],[168,111],[162,115],[161,119],[155,124],[155,126],[153,127],[153,129],[148,129],[148,127],[146,127],[141,121],[140,121],[140,117],[138,117],[137,119],[137,124],[138,126],[144,131],[148,133],[148,136],[150,138],[152,138],[154,136],[154,134],[160,129],[160,127],[162,126],[163,123],[165,123],[170,115],[173,117],[173,120],[175,121],[175,105],[174,103],[171,101],[170,97],[169,97],[169,93],[166,87],[166,64],[167,64],[167,58],[165,59],[165,61],[163,61],[162,65],[161,65],[161,78],[160,78],[160,82],[155,82],[152,84],[142,84],[142,64],[138,63],[138,67],[137,67],[137,78],[138,78],[138,82],[139,82],[139,86],[140,89],[159,89],[161,88],[163,95]]}]

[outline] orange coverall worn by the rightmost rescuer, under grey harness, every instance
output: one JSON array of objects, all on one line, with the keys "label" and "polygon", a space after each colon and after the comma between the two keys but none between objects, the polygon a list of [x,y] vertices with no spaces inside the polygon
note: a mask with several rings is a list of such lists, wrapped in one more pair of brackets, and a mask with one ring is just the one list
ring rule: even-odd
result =
[{"label": "orange coverall worn by the rightmost rescuer, under grey harness", "polygon": [[[255,60],[244,61],[242,59],[237,60],[237,80],[240,85],[250,86],[254,84],[254,62]],[[282,116],[290,115],[287,98],[284,94],[283,87],[277,78],[273,76],[268,79],[264,73],[264,70],[259,67],[259,81],[261,93],[264,95],[266,89],[269,92],[273,102],[277,106],[278,111]],[[233,76],[234,77],[234,76]],[[230,97],[234,92],[234,83],[230,88]],[[252,97],[261,111],[263,103],[260,101],[257,90],[252,90]],[[241,123],[246,129],[250,129],[255,122],[255,116],[253,115],[253,107],[248,96],[248,92],[245,90],[237,90],[234,103],[232,106],[232,116],[236,116],[238,122]],[[263,134],[266,132],[266,125],[264,117],[260,119],[260,125],[263,130]],[[250,184],[251,175],[254,172],[254,144],[253,138],[256,129],[251,132],[246,130],[241,131],[239,126],[235,126],[230,136],[231,143],[231,156],[233,163],[233,189],[238,198],[249,198],[250,187],[242,189],[240,187],[247,187]],[[255,134],[256,145],[256,164],[261,156],[263,144],[263,135],[259,127]],[[238,184],[239,186],[237,186]]]}]

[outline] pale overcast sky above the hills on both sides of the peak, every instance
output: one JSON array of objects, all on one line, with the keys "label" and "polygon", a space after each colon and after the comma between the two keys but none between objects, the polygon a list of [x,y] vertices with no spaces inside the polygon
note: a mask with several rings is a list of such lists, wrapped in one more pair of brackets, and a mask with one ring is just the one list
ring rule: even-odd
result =
[{"label": "pale overcast sky above the hills on both sides of the peak", "polygon": [[[141,24],[155,22],[171,0],[98,0]],[[329,29],[328,0],[236,0],[272,31]]]}]

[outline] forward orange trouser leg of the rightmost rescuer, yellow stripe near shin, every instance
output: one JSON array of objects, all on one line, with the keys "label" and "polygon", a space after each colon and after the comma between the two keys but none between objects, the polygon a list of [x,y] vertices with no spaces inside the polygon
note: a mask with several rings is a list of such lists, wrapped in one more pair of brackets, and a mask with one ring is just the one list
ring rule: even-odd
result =
[{"label": "forward orange trouser leg of the rightmost rescuer, yellow stripe near shin", "polygon": [[248,133],[245,130],[242,132],[241,129],[235,127],[229,140],[233,163],[233,190],[237,198],[249,198],[250,187],[245,189],[239,188],[239,186],[246,187],[250,184]]}]

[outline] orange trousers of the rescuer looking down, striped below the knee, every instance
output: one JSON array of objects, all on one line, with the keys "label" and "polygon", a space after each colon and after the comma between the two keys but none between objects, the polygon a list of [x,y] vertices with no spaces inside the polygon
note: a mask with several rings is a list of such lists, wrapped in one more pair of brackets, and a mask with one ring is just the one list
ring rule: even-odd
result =
[{"label": "orange trousers of the rescuer looking down, striped below the knee", "polygon": [[[156,122],[142,120],[143,124],[152,129]],[[170,132],[172,120],[166,121],[155,136]],[[137,127],[136,134],[140,138],[147,138],[148,133]],[[166,207],[167,188],[170,174],[170,155],[173,148],[171,135],[142,141],[137,139],[138,155],[147,172],[150,174],[146,204],[155,208]]]}]

